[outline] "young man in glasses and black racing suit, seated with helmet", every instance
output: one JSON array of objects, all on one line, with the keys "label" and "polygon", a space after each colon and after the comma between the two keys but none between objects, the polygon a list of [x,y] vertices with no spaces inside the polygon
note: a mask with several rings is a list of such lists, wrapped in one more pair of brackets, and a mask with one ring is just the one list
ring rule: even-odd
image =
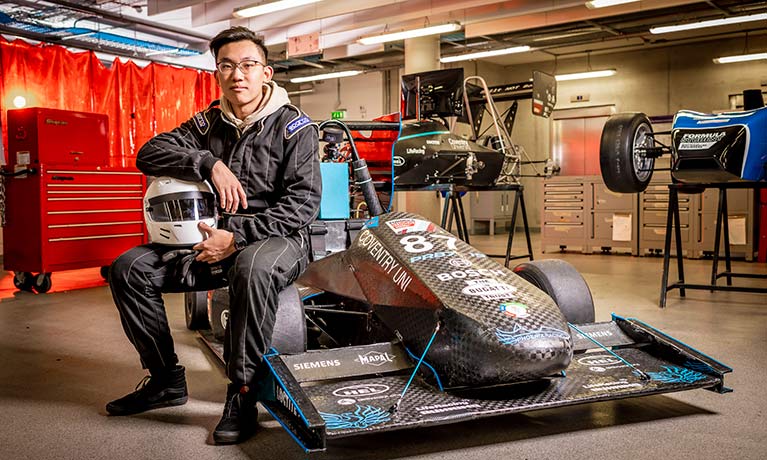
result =
[{"label": "young man in glasses and black racing suit, seated with helmet", "polygon": [[[207,238],[194,246],[198,254],[191,266],[163,261],[174,248],[157,244],[136,247],[112,264],[112,297],[150,375],[135,392],[107,404],[107,411],[128,415],[186,402],[184,368],[174,352],[162,293],[228,284],[224,355],[232,383],[213,439],[232,443],[256,426],[255,394],[268,372],[263,354],[271,343],[277,295],[307,265],[306,229],[320,203],[319,143],[316,124],[271,81],[267,50],[252,31],[227,29],[211,40],[210,49],[220,102],[147,142],[136,166],[152,176],[209,180],[224,222],[218,229],[199,224]],[[223,267],[219,274],[210,269],[213,263]],[[179,265],[194,276],[178,276]]]}]

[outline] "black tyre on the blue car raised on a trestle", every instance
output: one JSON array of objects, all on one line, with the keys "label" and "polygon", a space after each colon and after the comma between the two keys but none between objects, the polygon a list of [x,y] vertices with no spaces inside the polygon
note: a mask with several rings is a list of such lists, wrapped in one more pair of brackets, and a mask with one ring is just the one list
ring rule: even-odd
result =
[{"label": "black tyre on the blue car raised on a trestle", "polygon": [[599,166],[607,188],[619,193],[638,193],[652,178],[655,158],[640,152],[653,147],[652,125],[643,113],[619,113],[611,116],[602,128]]}]

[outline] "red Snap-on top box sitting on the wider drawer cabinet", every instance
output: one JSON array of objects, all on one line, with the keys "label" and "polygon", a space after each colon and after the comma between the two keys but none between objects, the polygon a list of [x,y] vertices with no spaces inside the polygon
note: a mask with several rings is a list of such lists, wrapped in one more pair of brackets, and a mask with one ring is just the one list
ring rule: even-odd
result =
[{"label": "red Snap-on top box sitting on the wider drawer cabinet", "polygon": [[8,111],[8,164],[106,166],[109,118],[103,114],[29,107]]}]

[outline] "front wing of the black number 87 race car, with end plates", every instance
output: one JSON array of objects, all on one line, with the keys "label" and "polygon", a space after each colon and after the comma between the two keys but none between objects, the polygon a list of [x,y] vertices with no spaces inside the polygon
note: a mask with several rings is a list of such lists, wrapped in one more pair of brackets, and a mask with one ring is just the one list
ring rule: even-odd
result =
[{"label": "front wing of the black number 87 race car, with end plates", "polygon": [[578,329],[571,330],[578,353],[562,375],[445,391],[424,362],[396,410],[418,360],[399,342],[274,353],[266,357],[272,386],[262,404],[312,452],[325,450],[328,439],[377,431],[696,388],[729,391],[724,374],[731,368],[641,321],[613,316]]}]

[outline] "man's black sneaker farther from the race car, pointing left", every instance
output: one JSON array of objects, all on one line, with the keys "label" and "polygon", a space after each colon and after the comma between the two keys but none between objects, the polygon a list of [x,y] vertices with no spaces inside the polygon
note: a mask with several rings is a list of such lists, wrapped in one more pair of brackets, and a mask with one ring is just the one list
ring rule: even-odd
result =
[{"label": "man's black sneaker farther from the race car, pointing left", "polygon": [[144,377],[136,391],[107,404],[110,415],[132,415],[159,407],[180,406],[188,397],[183,366],[176,366],[167,375]]}]

